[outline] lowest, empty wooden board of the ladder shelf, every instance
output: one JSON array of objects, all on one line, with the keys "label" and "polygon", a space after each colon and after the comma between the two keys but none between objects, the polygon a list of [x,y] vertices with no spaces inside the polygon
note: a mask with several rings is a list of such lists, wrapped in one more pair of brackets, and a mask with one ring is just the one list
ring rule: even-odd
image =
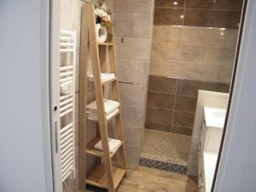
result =
[{"label": "lowest, empty wooden board of the ladder shelf", "polygon": [[[125,176],[126,171],[117,166],[113,166],[113,183],[116,189]],[[87,175],[86,184],[94,185],[102,189],[108,189],[107,175],[105,173],[105,167],[102,164],[96,165],[92,168],[90,173]]]}]

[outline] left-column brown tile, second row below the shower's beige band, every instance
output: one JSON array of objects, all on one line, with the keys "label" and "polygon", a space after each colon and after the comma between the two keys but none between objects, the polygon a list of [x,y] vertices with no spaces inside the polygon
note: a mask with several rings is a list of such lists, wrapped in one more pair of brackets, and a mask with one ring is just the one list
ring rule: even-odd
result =
[{"label": "left-column brown tile, second row below the shower's beige band", "polygon": [[148,106],[173,109],[174,95],[148,91]]}]

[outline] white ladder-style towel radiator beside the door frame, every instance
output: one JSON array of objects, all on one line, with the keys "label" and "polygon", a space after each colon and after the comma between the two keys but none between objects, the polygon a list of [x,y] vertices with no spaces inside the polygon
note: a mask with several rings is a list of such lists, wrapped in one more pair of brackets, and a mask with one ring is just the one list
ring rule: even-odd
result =
[{"label": "white ladder-style towel radiator beside the door frame", "polygon": [[75,58],[76,32],[61,30],[60,64],[60,150],[61,180],[73,175],[75,170]]}]

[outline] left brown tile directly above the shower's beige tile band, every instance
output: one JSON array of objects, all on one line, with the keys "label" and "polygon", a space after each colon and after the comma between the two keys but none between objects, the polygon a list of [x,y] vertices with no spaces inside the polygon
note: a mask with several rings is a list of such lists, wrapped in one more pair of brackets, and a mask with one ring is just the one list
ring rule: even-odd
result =
[{"label": "left brown tile directly above the shower's beige tile band", "polygon": [[183,9],[154,9],[154,25],[183,25]]}]

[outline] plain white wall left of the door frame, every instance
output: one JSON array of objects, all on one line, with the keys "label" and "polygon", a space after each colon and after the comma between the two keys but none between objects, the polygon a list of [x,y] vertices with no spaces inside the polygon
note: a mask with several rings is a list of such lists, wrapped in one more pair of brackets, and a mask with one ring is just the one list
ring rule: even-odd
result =
[{"label": "plain white wall left of the door frame", "polygon": [[0,1],[1,192],[52,191],[48,22],[49,1]]}]

